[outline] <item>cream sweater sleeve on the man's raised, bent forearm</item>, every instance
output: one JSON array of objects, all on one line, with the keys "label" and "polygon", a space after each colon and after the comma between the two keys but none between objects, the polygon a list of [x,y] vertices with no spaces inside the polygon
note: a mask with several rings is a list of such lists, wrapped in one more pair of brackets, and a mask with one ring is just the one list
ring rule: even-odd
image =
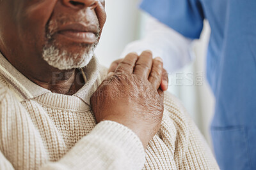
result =
[{"label": "cream sweater sleeve on the man's raised, bent forearm", "polygon": [[134,132],[116,122],[103,121],[62,159],[49,162],[41,169],[142,169],[144,154]]}]

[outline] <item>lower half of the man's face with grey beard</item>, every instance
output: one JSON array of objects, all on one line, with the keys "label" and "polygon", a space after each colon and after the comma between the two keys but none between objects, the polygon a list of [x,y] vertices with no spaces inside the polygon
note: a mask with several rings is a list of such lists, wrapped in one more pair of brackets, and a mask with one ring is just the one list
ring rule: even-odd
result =
[{"label": "lower half of the man's face with grey beard", "polygon": [[58,69],[86,66],[106,21],[104,0],[3,0],[0,9],[0,41]]}]

